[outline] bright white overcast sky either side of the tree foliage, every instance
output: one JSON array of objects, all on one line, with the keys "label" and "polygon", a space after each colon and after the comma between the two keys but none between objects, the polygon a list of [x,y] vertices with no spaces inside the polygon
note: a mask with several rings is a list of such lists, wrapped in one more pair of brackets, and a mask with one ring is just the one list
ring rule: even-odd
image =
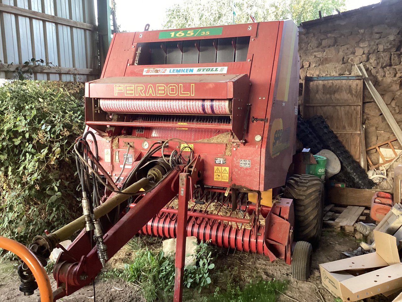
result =
[{"label": "bright white overcast sky either side of the tree foliage", "polygon": [[[162,29],[168,7],[180,0],[115,0],[117,23],[121,30],[143,31],[147,23],[150,30]],[[346,9],[351,10],[377,3],[379,0],[346,0]]]}]

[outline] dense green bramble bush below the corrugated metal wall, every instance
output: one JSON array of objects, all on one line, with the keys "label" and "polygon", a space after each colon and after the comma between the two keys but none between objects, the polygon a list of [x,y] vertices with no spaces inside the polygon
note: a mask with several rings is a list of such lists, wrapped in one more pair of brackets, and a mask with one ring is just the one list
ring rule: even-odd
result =
[{"label": "dense green bramble bush below the corrugated metal wall", "polygon": [[83,84],[0,87],[0,234],[27,244],[79,212],[72,147],[84,128]]}]

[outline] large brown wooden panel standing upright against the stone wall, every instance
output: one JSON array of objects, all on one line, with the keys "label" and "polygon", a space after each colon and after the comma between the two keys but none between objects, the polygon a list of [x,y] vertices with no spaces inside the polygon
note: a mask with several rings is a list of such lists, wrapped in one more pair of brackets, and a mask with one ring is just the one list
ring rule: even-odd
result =
[{"label": "large brown wooden panel standing upright against the stone wall", "polygon": [[303,118],[322,115],[331,130],[358,162],[364,151],[361,148],[362,105],[362,79],[319,81],[310,80],[308,77],[305,79]]}]

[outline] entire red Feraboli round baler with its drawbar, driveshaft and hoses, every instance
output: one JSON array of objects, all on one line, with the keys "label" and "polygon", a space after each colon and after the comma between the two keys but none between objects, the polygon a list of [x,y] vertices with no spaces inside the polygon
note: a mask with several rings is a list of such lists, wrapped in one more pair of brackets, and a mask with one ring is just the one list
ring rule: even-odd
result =
[{"label": "entire red Feraboli round baler with its drawbar, driveshaft and hoses", "polygon": [[[175,301],[185,236],[290,264],[302,197],[277,196],[295,151],[298,88],[292,21],[115,34],[101,79],[85,87],[84,216],[33,243],[46,257],[86,225],[57,259],[55,298],[90,283],[138,232],[177,238]],[[306,234],[319,232],[317,215]],[[305,267],[296,277],[308,277],[311,245],[294,252]]]}]

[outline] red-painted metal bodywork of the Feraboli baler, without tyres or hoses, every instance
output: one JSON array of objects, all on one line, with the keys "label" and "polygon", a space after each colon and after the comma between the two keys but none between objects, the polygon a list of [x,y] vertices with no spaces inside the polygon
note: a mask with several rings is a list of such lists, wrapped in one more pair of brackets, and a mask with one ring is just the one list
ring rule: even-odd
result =
[{"label": "red-painted metal bodywork of the Feraboli baler, without tyres or hoses", "polygon": [[[222,192],[231,188],[232,194],[252,191],[258,196],[260,191],[284,185],[294,153],[299,83],[297,27],[292,21],[221,27],[222,34],[219,35],[172,39],[159,39],[163,31],[117,33],[113,36],[101,79],[85,86],[85,120],[87,130],[91,127],[89,130],[95,133],[98,141],[97,165],[102,165],[104,169],[100,170],[112,180],[121,181],[115,179],[120,174],[123,179],[127,177],[148,146],[158,140],[182,139],[191,144],[196,154],[190,165],[181,167],[181,173],[173,170],[154,190],[139,198],[128,213],[122,213],[120,220],[107,230],[103,238],[111,257],[140,230],[154,236],[177,236],[174,301],[182,300],[186,236],[211,240],[213,244],[226,248],[265,254],[272,261],[276,258],[285,259],[287,263],[291,261],[294,224],[291,200],[282,199],[272,208],[262,209],[257,198],[251,221],[187,211],[196,182],[202,187],[213,186],[211,190]],[[135,54],[143,43],[231,37],[250,38],[245,61],[135,65]],[[215,45],[218,50],[219,44],[214,42]],[[233,39],[232,46],[236,49]],[[221,66],[227,67],[227,71],[226,74],[201,75],[143,74],[144,68],[194,66]],[[172,88],[170,95],[168,87]],[[229,99],[233,108],[230,116],[113,114],[99,108],[99,98],[144,101],[150,98],[175,101]],[[230,134],[228,141],[205,141],[225,133]],[[94,142],[88,140],[88,143],[92,149]],[[170,141],[164,154],[180,151],[181,145],[178,141]],[[155,153],[155,156],[160,155],[160,151]],[[190,152],[183,151],[183,155],[189,158]],[[129,156],[131,161],[123,163],[124,157]],[[215,177],[219,169],[226,169],[228,176],[220,172],[220,177]],[[176,194],[178,210],[164,208]],[[267,215],[265,228],[256,219],[260,211]],[[252,229],[234,228],[224,225],[222,220],[248,221]],[[90,235],[83,231],[57,259],[53,275],[59,294],[55,298],[69,295],[90,283],[100,269],[96,247],[92,246]]]}]

